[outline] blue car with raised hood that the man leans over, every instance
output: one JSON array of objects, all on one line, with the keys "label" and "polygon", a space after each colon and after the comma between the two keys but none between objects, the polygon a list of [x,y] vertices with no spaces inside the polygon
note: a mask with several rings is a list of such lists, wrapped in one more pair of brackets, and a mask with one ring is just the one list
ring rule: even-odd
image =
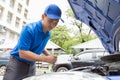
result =
[{"label": "blue car with raised hood that the man leans over", "polygon": [[[82,71],[79,67],[73,71],[32,76],[25,80],[120,80],[120,0],[68,0],[68,3],[76,19],[87,24],[110,53],[101,58],[107,65],[91,66]],[[110,66],[114,68],[112,71]],[[80,71],[74,72],[76,70]]]}]

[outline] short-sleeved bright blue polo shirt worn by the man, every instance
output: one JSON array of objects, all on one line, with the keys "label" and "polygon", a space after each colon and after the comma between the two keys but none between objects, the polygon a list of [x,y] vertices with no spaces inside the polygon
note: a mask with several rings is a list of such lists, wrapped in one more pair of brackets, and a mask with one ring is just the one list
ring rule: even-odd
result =
[{"label": "short-sleeved bright blue polo shirt worn by the man", "polygon": [[41,54],[48,40],[50,39],[50,31],[43,32],[42,22],[34,22],[27,24],[21,31],[17,45],[11,51],[11,55],[18,60],[26,63],[34,63],[19,57],[19,50],[29,50],[36,54]]}]

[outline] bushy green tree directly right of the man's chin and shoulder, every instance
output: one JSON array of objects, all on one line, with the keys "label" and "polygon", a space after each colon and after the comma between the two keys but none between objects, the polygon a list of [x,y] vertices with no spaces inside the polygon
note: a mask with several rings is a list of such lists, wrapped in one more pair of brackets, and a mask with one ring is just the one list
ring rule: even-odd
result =
[{"label": "bushy green tree directly right of the man's chin and shoulder", "polygon": [[70,30],[66,26],[57,26],[52,30],[51,41],[62,47],[67,53],[73,53],[71,46],[79,41],[69,35]]}]

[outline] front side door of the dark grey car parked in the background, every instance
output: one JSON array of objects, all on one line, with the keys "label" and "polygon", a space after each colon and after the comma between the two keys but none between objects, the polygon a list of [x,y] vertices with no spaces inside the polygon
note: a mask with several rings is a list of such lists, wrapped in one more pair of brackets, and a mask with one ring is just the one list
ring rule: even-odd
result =
[{"label": "front side door of the dark grey car parked in the background", "polygon": [[79,55],[75,56],[75,58],[71,61],[71,64],[73,68],[92,66],[95,63],[95,58],[96,54],[92,52],[79,53]]}]

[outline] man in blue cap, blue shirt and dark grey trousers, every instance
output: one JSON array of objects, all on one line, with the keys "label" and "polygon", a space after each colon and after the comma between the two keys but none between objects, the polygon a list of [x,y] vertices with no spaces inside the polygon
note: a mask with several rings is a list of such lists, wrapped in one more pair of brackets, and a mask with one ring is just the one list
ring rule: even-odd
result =
[{"label": "man in blue cap, blue shirt and dark grey trousers", "polygon": [[[45,8],[40,21],[24,26],[17,45],[10,53],[3,80],[22,80],[35,75],[36,61],[56,62],[57,57],[50,54],[45,46],[50,39],[50,30],[58,24],[61,14],[57,5],[50,4]],[[45,55],[41,56],[41,53]]]}]

